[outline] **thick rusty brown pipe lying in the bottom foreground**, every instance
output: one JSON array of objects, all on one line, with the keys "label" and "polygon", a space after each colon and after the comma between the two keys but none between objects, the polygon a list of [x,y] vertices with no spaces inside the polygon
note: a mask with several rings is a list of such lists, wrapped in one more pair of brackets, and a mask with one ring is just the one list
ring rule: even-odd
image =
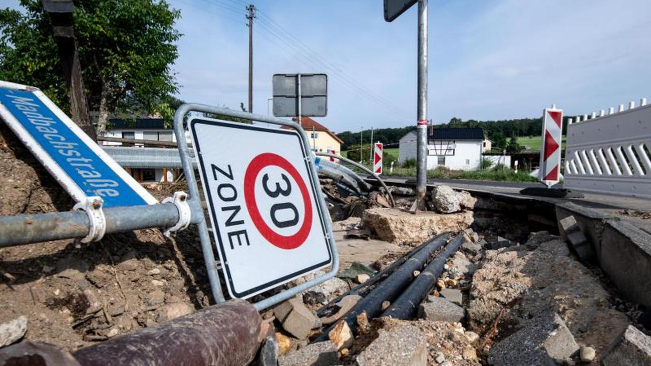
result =
[{"label": "thick rusty brown pipe lying in the bottom foreground", "polygon": [[128,333],[73,356],[81,366],[249,365],[265,334],[255,307],[231,300]]}]

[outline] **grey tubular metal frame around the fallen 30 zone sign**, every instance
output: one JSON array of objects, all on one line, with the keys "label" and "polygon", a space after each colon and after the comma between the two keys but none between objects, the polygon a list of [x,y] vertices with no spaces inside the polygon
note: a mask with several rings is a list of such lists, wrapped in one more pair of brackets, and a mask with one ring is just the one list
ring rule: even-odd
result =
[{"label": "grey tubular metal frame around the fallen 30 zone sign", "polygon": [[[208,277],[210,279],[210,286],[213,291],[213,296],[215,298],[215,301],[224,302],[225,300],[219,282],[219,274],[217,273],[217,263],[215,261],[214,246],[212,245],[212,242],[210,242],[210,235],[208,234],[208,225],[206,224],[206,219],[202,214],[203,209],[201,207],[201,194],[199,193],[197,180],[194,174],[194,169],[192,164],[193,157],[190,154],[190,150],[187,147],[187,141],[185,139],[185,129],[184,129],[183,120],[184,117],[186,117],[186,115],[191,112],[225,115],[229,117],[236,117],[236,118],[246,119],[251,121],[275,124],[277,126],[287,126],[289,128],[296,130],[298,132],[299,137],[301,138],[301,141],[303,141],[303,150],[305,152],[305,156],[307,156],[305,159],[309,167],[308,169],[312,177],[312,181],[314,181],[314,186],[317,193],[321,191],[321,186],[319,184],[318,175],[316,174],[316,167],[314,167],[314,161],[313,161],[314,157],[312,156],[312,152],[309,150],[309,146],[310,146],[309,140],[307,139],[307,135],[305,134],[305,131],[303,130],[303,128],[301,128],[299,124],[295,122],[291,122],[289,120],[278,119],[275,117],[255,115],[253,113],[247,113],[247,112],[238,112],[232,109],[206,106],[204,104],[184,104],[180,106],[178,109],[176,109],[176,114],[174,115],[174,134],[176,134],[176,139],[178,142],[178,151],[181,156],[181,162],[187,180],[187,189],[190,195],[190,199],[188,203],[192,208],[193,218],[195,214],[201,212],[201,218],[197,220],[198,221],[197,226],[199,229],[199,238],[201,240],[201,247],[204,255],[204,261],[206,262],[206,269],[208,270]],[[253,305],[256,307],[256,309],[258,310],[266,309],[267,307],[275,305],[279,302],[283,302],[284,300],[287,300],[288,298],[292,298],[293,296],[296,296],[296,294],[299,294],[309,289],[312,286],[318,285],[319,283],[323,283],[328,279],[335,277],[335,275],[337,274],[337,270],[339,270],[339,254],[337,253],[337,246],[335,244],[334,236],[332,234],[332,224],[331,224],[331,220],[329,219],[330,216],[326,210],[327,207],[326,201],[324,200],[323,195],[320,194],[317,194],[315,198],[316,198],[315,200],[316,206],[318,207],[318,210],[320,210],[322,217],[325,218],[324,225],[326,227],[326,233],[329,238],[328,240],[329,250],[331,251],[331,255],[332,255],[331,269],[325,275],[316,277],[314,279],[311,279],[310,281],[301,283],[300,285],[294,286],[286,291],[280,292],[279,294],[275,294],[273,296],[270,296],[269,298],[261,300],[260,302],[254,303]]]}]

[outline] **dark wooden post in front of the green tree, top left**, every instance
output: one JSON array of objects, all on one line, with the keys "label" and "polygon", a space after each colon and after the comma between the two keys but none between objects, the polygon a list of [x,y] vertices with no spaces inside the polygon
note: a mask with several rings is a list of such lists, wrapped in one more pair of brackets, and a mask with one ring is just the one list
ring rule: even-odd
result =
[{"label": "dark wooden post in front of the green tree, top left", "polygon": [[48,12],[53,27],[53,37],[59,49],[59,59],[63,77],[68,87],[72,120],[93,141],[97,141],[95,128],[90,124],[88,104],[81,77],[79,55],[75,44],[72,12],[72,0],[42,0],[43,8]]}]

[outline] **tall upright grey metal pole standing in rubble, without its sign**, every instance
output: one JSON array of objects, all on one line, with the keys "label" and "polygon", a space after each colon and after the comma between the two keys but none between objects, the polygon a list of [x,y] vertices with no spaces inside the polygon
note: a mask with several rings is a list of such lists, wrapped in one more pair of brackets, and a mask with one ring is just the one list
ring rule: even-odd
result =
[{"label": "tall upright grey metal pole standing in rubble, without its sign", "polygon": [[418,1],[418,122],[416,201],[427,192],[427,0]]}]

